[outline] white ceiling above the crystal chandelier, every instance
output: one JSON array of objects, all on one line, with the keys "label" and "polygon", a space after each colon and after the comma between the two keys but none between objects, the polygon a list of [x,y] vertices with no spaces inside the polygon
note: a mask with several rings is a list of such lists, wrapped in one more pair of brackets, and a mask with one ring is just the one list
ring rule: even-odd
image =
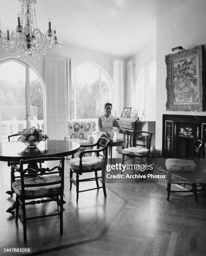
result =
[{"label": "white ceiling above the crystal chandelier", "polygon": [[[48,18],[63,46],[129,56],[156,40],[156,20],[186,0],[37,0],[37,25],[45,33]],[[0,0],[1,30],[17,25],[18,0]]]}]

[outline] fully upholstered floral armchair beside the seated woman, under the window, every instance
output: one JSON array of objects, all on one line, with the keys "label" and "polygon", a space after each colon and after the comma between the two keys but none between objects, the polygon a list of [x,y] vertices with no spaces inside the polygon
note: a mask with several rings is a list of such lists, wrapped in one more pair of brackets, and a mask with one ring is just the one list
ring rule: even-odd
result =
[{"label": "fully upholstered floral armchair beside the seated woman, under the window", "polygon": [[[78,157],[80,152],[85,150],[84,145],[90,145],[94,143],[92,132],[95,131],[96,123],[92,120],[70,120],[67,121],[67,135],[64,136],[65,141],[74,141],[81,145],[80,151],[74,154],[74,157]],[[87,148],[87,149],[92,149]],[[85,156],[90,156],[87,153]]]}]

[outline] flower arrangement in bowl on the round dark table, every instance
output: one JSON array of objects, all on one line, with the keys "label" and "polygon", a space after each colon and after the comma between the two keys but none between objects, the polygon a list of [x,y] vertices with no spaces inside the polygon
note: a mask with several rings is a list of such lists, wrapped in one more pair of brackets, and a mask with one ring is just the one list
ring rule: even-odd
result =
[{"label": "flower arrangement in bowl on the round dark table", "polygon": [[46,135],[43,130],[35,128],[35,126],[31,128],[25,128],[22,131],[18,131],[20,137],[18,141],[25,142],[25,141],[45,141],[48,139],[48,135]]}]

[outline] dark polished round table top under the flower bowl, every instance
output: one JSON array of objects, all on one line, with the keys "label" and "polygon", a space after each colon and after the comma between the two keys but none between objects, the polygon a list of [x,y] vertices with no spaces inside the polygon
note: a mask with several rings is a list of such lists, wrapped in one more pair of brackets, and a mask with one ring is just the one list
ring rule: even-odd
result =
[{"label": "dark polished round table top under the flower bowl", "polygon": [[80,144],[73,141],[46,140],[35,148],[28,148],[20,141],[0,143],[0,161],[20,161],[40,157],[61,157],[76,153]]}]

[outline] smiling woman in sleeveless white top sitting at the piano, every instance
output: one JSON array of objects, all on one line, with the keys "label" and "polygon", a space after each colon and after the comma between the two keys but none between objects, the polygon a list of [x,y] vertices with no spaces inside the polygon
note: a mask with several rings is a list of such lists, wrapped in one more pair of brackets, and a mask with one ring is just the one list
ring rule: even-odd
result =
[{"label": "smiling woman in sleeveless white top sitting at the piano", "polygon": [[113,139],[113,126],[118,128],[119,131],[126,133],[126,130],[120,127],[116,118],[113,115],[111,115],[112,104],[106,103],[104,110],[105,114],[101,115],[98,119],[99,131],[97,132],[97,138],[107,137],[109,139]]}]

